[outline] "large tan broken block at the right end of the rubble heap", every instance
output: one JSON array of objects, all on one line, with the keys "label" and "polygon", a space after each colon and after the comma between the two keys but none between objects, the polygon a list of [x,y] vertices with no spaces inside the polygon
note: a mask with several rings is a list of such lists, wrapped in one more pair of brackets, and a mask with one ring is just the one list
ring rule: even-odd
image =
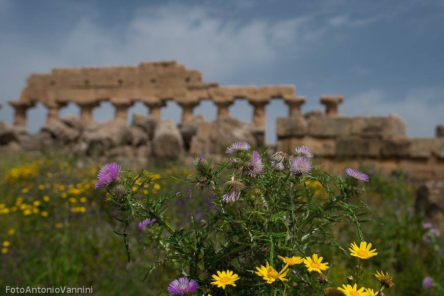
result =
[{"label": "large tan broken block at the right end of the rubble heap", "polygon": [[245,141],[257,146],[256,139],[248,128],[235,118],[223,118],[213,122],[200,123],[191,139],[190,154],[224,154],[234,142]]}]

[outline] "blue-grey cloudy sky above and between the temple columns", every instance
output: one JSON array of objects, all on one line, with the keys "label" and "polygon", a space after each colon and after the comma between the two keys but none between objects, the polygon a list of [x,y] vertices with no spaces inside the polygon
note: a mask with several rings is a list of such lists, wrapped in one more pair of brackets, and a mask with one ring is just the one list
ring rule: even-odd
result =
[{"label": "blue-grey cloudy sky above and between the temple columns", "polygon": [[[52,68],[137,66],[176,60],[219,85],[296,86],[302,112],[324,110],[323,94],[344,95],[342,116],[396,113],[409,137],[434,137],[444,123],[444,1],[442,0],[0,0],[0,120],[13,122],[31,73]],[[231,116],[252,120],[252,106],[237,99]],[[128,110],[147,114],[142,103]],[[202,101],[194,114],[216,118]],[[276,142],[282,99],[266,106],[267,141]],[[27,129],[38,132],[47,109],[28,110]],[[61,117],[80,114],[75,104]],[[163,119],[180,121],[168,102]],[[114,117],[102,102],[97,121]]]}]

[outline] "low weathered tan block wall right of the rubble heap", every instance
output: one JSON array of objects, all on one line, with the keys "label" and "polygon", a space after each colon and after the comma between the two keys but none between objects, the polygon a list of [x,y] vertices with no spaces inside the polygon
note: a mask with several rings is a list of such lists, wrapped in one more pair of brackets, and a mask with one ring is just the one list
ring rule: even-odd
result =
[{"label": "low weathered tan block wall right of the rubble heap", "polygon": [[295,114],[276,120],[277,149],[305,145],[323,164],[341,171],[371,162],[385,172],[404,170],[415,180],[444,178],[444,137],[408,138],[405,122],[388,117]]}]

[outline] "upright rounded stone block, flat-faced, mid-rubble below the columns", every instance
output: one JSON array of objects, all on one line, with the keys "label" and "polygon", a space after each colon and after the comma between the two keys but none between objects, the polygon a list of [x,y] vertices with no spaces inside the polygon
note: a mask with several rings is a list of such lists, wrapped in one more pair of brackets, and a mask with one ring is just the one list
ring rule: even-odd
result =
[{"label": "upright rounded stone block, flat-faced, mid-rubble below the columns", "polygon": [[184,139],[172,120],[161,120],[154,129],[152,154],[160,158],[177,158],[184,151]]}]

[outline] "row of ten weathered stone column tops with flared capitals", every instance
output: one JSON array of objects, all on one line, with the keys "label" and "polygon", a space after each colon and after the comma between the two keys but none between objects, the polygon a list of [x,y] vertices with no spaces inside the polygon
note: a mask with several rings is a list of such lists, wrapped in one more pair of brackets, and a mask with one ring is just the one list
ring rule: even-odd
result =
[{"label": "row of ten weathered stone column tops with flared capitals", "polygon": [[[270,98],[264,99],[252,99],[247,98],[248,102],[254,107],[253,111],[253,123],[258,127],[265,128],[265,106],[270,102]],[[301,105],[305,103],[305,97],[292,97],[284,98],[285,104],[289,105],[289,116],[293,114],[299,114],[301,112]],[[321,96],[321,103],[326,106],[326,114],[329,116],[337,116],[337,106],[343,101],[343,96]],[[127,99],[112,98],[110,102],[115,106],[116,113],[115,119],[127,119],[127,109],[134,104],[134,101]],[[160,120],[161,107],[166,106],[164,101],[142,101],[149,109],[149,115],[153,118]],[[26,126],[26,110],[30,107],[35,106],[35,102],[24,102],[24,101],[8,101],[10,105],[15,108],[14,125],[15,126]],[[199,105],[197,101],[178,101],[177,102],[182,107],[182,118],[181,122],[187,121],[193,118],[193,109]],[[228,107],[234,103],[233,98],[225,99],[215,99],[214,103],[218,106],[217,119],[227,118],[230,116]],[[80,106],[80,118],[84,125],[89,124],[92,118],[92,110],[94,107],[99,105],[99,101],[94,102],[76,102]],[[48,116],[46,122],[59,119],[60,113],[59,109],[66,106],[66,102],[56,102],[53,104],[46,104],[48,107]]]}]

